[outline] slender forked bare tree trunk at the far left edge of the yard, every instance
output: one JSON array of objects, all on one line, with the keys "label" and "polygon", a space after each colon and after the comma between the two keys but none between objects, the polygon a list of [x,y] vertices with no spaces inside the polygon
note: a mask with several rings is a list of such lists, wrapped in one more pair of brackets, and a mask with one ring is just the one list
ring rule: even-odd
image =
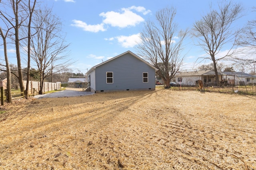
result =
[{"label": "slender forked bare tree trunk at the far left edge of the yard", "polygon": [[8,62],[8,56],[7,56],[7,43],[6,43],[6,37],[8,34],[8,31],[4,35],[2,28],[0,27],[0,34],[3,39],[3,44],[4,44],[4,59],[6,63],[6,72],[7,72],[7,102],[12,103],[12,92],[11,92],[11,70],[10,70],[10,65]]}]

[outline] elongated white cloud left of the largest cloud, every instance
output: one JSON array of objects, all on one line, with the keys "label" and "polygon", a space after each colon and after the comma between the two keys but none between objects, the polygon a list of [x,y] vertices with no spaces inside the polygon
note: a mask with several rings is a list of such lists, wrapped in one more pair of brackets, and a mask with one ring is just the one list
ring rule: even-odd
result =
[{"label": "elongated white cloud left of the largest cloud", "polygon": [[98,31],[106,31],[104,28],[104,24],[97,24],[97,25],[88,25],[87,23],[79,20],[72,20],[74,24],[71,24],[72,26],[82,28],[84,31],[90,31],[90,32],[98,32]]}]

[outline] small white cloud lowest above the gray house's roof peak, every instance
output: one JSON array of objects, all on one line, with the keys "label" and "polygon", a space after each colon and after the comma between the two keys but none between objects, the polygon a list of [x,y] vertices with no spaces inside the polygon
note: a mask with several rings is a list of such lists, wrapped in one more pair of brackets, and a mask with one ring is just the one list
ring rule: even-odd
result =
[{"label": "small white cloud lowest above the gray house's roof peak", "polygon": [[125,48],[134,47],[135,45],[137,45],[137,43],[141,42],[140,33],[130,36],[121,35],[115,38],[118,40],[118,43],[120,43],[122,47]]}]

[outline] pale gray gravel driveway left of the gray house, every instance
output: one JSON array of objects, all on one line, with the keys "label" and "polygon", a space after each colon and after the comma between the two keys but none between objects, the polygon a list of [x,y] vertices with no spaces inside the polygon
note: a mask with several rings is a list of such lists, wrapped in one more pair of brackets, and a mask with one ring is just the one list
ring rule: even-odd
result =
[{"label": "pale gray gravel driveway left of the gray house", "polygon": [[86,96],[86,95],[92,95],[92,94],[94,94],[94,92],[85,92],[85,91],[82,91],[82,88],[66,88],[66,90],[62,90],[59,92],[36,95],[34,96],[34,98],[37,98],[37,99],[64,98],[64,97],[74,97],[74,96]]}]

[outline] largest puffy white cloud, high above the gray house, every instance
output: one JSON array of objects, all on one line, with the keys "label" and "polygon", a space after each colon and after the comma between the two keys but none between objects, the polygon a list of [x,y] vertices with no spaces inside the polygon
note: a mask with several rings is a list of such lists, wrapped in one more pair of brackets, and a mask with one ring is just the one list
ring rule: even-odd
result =
[{"label": "largest puffy white cloud, high above the gray house", "polygon": [[[103,23],[110,24],[112,27],[128,27],[135,26],[144,21],[144,19],[138,14],[132,12],[132,9],[136,9],[138,11],[139,7],[132,6],[130,8],[122,8],[122,12],[102,12],[100,16],[105,18]],[[141,10],[141,9],[140,9]]]}]

